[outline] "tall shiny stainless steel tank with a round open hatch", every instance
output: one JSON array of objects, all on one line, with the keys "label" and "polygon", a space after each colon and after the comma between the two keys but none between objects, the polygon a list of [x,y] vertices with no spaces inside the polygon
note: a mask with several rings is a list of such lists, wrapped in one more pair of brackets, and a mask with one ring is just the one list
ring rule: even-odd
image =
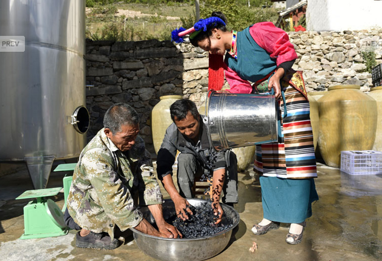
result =
[{"label": "tall shiny stainless steel tank with a round open hatch", "polygon": [[53,160],[86,143],[85,1],[0,1],[0,36],[24,36],[24,52],[0,52],[0,160],[26,161],[45,188]]}]

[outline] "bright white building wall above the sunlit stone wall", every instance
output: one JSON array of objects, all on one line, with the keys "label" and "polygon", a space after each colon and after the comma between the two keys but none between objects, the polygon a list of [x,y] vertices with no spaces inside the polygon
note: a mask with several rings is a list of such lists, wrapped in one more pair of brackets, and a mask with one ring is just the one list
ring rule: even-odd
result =
[{"label": "bright white building wall above the sunlit stone wall", "polygon": [[310,31],[382,27],[382,0],[308,0],[306,23]]}]

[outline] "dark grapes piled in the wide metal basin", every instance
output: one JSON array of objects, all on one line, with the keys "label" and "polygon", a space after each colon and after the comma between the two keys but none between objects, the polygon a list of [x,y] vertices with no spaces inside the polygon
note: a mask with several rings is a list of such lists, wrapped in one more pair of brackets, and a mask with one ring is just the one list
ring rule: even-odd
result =
[{"label": "dark grapes piled in the wide metal basin", "polygon": [[[190,205],[187,205],[187,207],[189,207],[193,213],[193,215],[188,215],[189,219],[183,221],[181,218],[176,217],[175,220],[174,218],[173,220],[167,220],[183,234],[183,238],[210,236],[232,227],[232,223],[224,224],[224,222],[221,222],[216,225],[214,224],[216,216],[214,216],[212,211],[211,201],[202,203],[198,207]],[[186,213],[188,214],[187,211]]]}]

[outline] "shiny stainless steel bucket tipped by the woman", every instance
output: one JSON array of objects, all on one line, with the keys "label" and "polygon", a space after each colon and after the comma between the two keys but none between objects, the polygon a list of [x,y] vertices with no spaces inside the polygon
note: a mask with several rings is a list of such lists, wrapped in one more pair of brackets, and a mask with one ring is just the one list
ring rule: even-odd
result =
[{"label": "shiny stainless steel bucket tipped by the woman", "polygon": [[209,93],[206,117],[216,150],[277,141],[274,95]]}]

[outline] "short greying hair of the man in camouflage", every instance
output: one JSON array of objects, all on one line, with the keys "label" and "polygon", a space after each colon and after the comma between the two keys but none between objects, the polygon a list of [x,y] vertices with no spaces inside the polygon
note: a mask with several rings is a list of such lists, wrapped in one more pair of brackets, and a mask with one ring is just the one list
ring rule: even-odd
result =
[{"label": "short greying hair of the man in camouflage", "polygon": [[127,103],[111,105],[103,118],[103,127],[110,129],[111,133],[121,131],[122,125],[135,126],[139,124],[138,113]]}]

